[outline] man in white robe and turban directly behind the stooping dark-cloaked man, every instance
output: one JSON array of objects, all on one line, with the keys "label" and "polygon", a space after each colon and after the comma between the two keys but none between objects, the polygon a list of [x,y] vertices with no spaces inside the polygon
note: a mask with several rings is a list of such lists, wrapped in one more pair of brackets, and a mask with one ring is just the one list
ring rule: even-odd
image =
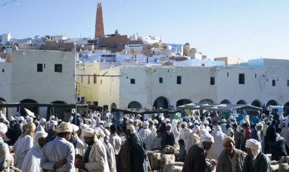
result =
[{"label": "man in white robe and turban directly behind the stooping dark-cloaked man", "polygon": [[217,160],[220,153],[223,151],[223,140],[226,138],[226,134],[222,132],[222,128],[220,125],[213,127],[213,133],[211,135],[213,136],[215,142],[212,144],[211,149],[208,151],[208,154],[206,155],[206,158],[209,160],[214,159]]}]

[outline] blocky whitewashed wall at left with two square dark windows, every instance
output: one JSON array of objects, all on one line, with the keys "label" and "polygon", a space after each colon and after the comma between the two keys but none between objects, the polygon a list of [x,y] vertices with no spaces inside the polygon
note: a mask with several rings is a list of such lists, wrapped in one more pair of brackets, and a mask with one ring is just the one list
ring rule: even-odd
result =
[{"label": "blocky whitewashed wall at left with two square dark windows", "polygon": [[[32,99],[37,103],[76,103],[75,54],[74,51],[13,51],[12,102]],[[37,63],[45,64],[43,72],[37,72]],[[62,72],[54,72],[54,64],[62,64]]]}]

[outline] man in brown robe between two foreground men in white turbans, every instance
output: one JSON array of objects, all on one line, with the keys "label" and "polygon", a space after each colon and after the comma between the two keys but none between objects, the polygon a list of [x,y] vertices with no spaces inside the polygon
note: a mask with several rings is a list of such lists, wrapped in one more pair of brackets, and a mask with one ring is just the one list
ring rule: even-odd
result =
[{"label": "man in brown robe between two foreground men in white turbans", "polygon": [[216,172],[242,172],[244,164],[244,153],[239,149],[235,149],[235,141],[231,137],[223,140],[224,150],[217,158]]}]

